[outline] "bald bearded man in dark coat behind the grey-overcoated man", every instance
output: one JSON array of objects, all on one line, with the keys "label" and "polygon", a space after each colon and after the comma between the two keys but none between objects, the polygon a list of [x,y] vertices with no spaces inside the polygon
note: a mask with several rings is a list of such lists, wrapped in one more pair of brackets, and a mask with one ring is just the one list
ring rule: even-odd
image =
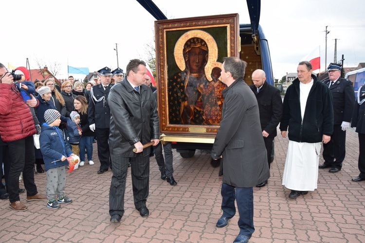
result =
[{"label": "bald bearded man in dark coat behind the grey-overcoated man", "polygon": [[[266,82],[264,70],[256,69],[252,73],[252,82],[254,84],[250,88],[256,96],[258,110],[260,111],[262,137],[264,138],[270,169],[274,138],[277,135],[276,127],[283,117],[283,102],[279,89]],[[267,181],[264,181],[256,185],[256,187],[263,187],[266,184]]]}]

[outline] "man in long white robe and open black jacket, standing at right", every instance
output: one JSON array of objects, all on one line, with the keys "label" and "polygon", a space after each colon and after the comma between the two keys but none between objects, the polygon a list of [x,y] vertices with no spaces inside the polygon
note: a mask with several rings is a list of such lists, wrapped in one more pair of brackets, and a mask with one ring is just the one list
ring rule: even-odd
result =
[{"label": "man in long white robe and open black jacket, standing at right", "polygon": [[308,61],[298,65],[296,78],[283,102],[281,136],[289,138],[283,186],[290,198],[317,189],[321,142],[328,143],[333,132],[333,107],[329,88],[312,74]]}]

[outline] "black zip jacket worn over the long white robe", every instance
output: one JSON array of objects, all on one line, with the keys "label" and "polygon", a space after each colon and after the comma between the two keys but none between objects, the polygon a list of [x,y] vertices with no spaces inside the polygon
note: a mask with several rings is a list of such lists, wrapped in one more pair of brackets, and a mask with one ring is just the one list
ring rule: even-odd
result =
[{"label": "black zip jacket worn over the long white robe", "polygon": [[318,82],[315,75],[312,74],[312,78],[313,85],[308,95],[303,121],[298,78],[285,93],[280,131],[286,131],[289,126],[288,138],[295,142],[321,142],[323,135],[331,136],[333,133],[332,95],[329,88]]}]

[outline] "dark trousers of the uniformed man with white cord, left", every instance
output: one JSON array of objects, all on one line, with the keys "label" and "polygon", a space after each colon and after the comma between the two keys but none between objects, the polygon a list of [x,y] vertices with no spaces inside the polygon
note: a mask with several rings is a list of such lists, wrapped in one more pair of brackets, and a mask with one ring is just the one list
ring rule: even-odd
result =
[{"label": "dark trousers of the uniformed man with white cord, left", "polygon": [[109,128],[96,128],[95,134],[97,139],[98,157],[101,169],[111,169],[110,152],[109,152]]}]

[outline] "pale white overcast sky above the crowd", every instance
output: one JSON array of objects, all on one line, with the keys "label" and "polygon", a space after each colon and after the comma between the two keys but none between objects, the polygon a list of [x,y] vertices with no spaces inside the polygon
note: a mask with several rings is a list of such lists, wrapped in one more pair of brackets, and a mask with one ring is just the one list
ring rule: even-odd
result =
[{"label": "pale white overcast sky above the crowd", "polygon": [[[249,23],[245,0],[154,0],[167,18],[239,14]],[[207,2],[209,4],[207,4]],[[222,4],[224,3],[224,5]],[[133,58],[144,58],[153,42],[154,18],[136,0],[12,0],[1,1],[0,62],[31,69],[37,62],[57,62],[57,78],[67,78],[67,65],[96,71],[105,66],[125,70]],[[260,25],[269,42],[274,77],[296,72],[298,62],[316,46],[325,67],[325,30],[328,25],[327,65],[345,55],[345,67],[365,62],[364,0],[261,0]],[[85,75],[73,75],[84,78]]]}]

